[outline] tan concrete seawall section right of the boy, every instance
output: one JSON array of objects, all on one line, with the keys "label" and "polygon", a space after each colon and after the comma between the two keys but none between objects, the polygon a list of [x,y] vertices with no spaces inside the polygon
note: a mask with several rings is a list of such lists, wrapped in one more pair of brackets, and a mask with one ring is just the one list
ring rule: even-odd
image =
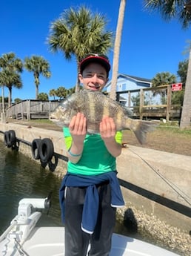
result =
[{"label": "tan concrete seawall section right of the boy", "polygon": [[[153,197],[170,199],[190,209],[191,198],[191,157],[139,148],[130,145],[118,157],[118,177],[138,188],[153,192]],[[184,216],[154,200],[123,188],[127,204],[133,202],[138,209],[154,214],[173,226],[190,232],[190,217]]]}]

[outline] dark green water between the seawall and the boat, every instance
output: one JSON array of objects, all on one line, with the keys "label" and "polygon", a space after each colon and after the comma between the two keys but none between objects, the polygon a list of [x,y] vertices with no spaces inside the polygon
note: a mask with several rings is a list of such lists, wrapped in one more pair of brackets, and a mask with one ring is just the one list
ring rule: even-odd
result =
[{"label": "dark green water between the seawall and the boat", "polygon": [[49,213],[42,211],[41,225],[61,226],[58,189],[61,180],[51,171],[0,142],[0,234],[17,214],[18,203],[24,197],[47,197],[52,194]]}]

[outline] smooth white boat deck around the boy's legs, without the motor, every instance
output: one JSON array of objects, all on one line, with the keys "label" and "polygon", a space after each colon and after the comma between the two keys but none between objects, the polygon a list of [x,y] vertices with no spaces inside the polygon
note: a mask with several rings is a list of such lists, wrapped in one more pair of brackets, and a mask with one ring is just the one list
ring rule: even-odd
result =
[{"label": "smooth white boat deck around the boy's legs, without the motor", "polygon": [[[10,240],[4,240],[4,249],[0,243],[1,256],[21,256],[18,249],[9,246]],[[10,248],[7,250],[5,248]],[[22,245],[22,252],[30,256],[64,256],[64,227],[34,228]],[[110,256],[175,256],[174,253],[150,243],[113,234]]]}]

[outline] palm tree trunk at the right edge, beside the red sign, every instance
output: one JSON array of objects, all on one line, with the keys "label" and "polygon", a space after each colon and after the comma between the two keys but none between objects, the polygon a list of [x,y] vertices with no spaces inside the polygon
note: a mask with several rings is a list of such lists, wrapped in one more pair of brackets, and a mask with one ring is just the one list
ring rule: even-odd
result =
[{"label": "palm tree trunk at the right edge, beside the red sign", "polygon": [[189,128],[191,119],[191,49],[187,70],[187,81],[184,91],[184,102],[181,113],[180,128]]}]

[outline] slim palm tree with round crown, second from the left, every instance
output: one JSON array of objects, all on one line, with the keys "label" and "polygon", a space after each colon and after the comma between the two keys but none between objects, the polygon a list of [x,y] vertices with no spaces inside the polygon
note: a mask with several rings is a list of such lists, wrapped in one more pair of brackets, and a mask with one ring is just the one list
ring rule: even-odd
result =
[{"label": "slim palm tree with round crown, second from the left", "polygon": [[40,85],[39,76],[42,75],[46,78],[50,78],[50,65],[41,56],[31,56],[31,58],[26,57],[24,59],[24,68],[29,72],[33,72],[36,85],[36,99],[38,99],[38,87]]}]

